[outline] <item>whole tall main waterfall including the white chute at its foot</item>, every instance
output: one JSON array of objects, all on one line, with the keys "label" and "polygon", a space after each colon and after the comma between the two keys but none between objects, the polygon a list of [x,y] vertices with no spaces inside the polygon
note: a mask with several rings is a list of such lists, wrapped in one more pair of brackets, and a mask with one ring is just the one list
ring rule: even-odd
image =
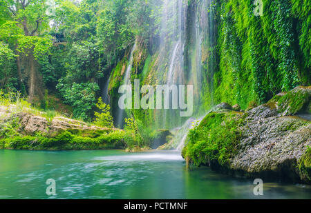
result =
[{"label": "whole tall main waterfall including the white chute at its foot", "polygon": [[[166,3],[167,5],[167,3]],[[183,5],[182,0],[173,1],[174,8],[177,10],[171,10],[176,12],[175,20],[177,28],[174,28],[171,36],[172,45],[169,48],[169,66],[167,70],[167,84],[193,84],[194,85],[194,116],[200,116],[205,114],[208,108],[205,108],[205,100],[202,100],[202,94],[204,92],[212,93],[212,77],[214,74],[214,45],[216,33],[214,30],[214,14],[207,12],[211,6],[211,0],[202,0],[194,4],[194,7],[187,7]],[[169,7],[169,6],[167,6]],[[190,8],[190,9],[186,9]],[[167,12],[167,9],[164,10]],[[187,14],[191,12],[191,14]],[[167,14],[165,14],[167,17]],[[187,19],[185,18],[187,17]],[[186,23],[187,21],[187,23]],[[187,30],[186,30],[187,24]],[[167,25],[166,29],[169,29]],[[167,39],[167,37],[165,37]],[[187,39],[186,39],[187,38]],[[184,52],[185,40],[189,42],[187,45],[187,52]],[[164,42],[165,43],[165,42]],[[167,41],[168,43],[168,41]],[[184,54],[187,55],[187,69],[184,66]],[[203,63],[207,66],[203,70]],[[206,75],[204,72],[209,73],[208,79],[203,76]],[[207,85],[209,84],[209,85]],[[209,90],[207,90],[208,88]],[[206,96],[206,94],[205,94]],[[212,99],[212,97],[211,97]],[[209,100],[209,107],[213,105],[213,101]],[[171,110],[173,111],[173,110]],[[166,121],[171,123],[178,121],[178,114],[169,111],[164,111],[164,118]],[[187,140],[187,134],[191,128],[194,128],[194,123],[202,121],[205,116],[200,119],[190,118],[188,119],[177,131],[171,141],[171,145],[176,150],[182,150]],[[165,126],[165,125],[164,125]],[[166,125],[167,127],[167,125]]]}]

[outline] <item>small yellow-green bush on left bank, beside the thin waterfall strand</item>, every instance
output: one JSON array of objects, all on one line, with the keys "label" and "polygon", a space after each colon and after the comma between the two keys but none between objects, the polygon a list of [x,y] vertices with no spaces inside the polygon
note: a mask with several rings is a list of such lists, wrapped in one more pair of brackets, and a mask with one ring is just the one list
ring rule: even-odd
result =
[{"label": "small yellow-green bush on left bank, beside the thin waterfall strand", "polygon": [[113,117],[110,114],[110,106],[102,101],[100,97],[96,103],[96,107],[100,112],[94,112],[95,115],[95,125],[102,127],[113,128]]}]

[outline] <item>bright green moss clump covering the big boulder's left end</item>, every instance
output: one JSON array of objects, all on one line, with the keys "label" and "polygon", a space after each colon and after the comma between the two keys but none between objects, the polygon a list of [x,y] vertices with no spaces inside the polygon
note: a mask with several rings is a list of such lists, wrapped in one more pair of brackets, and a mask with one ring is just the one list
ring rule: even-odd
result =
[{"label": "bright green moss clump covering the big boulder's left end", "polygon": [[243,119],[236,119],[235,114],[211,112],[202,122],[189,130],[189,142],[182,150],[183,155],[189,156],[195,165],[210,161],[226,165],[236,154],[241,139],[241,131],[238,128]]}]

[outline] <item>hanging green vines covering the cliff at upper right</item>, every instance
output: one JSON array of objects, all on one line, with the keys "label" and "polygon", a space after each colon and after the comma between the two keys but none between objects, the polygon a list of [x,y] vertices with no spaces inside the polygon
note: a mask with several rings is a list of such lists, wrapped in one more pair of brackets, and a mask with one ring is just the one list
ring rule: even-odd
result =
[{"label": "hanging green vines covering the cliff at upper right", "polygon": [[264,103],[299,83],[310,84],[310,19],[306,12],[310,4],[263,1],[261,17],[254,16],[252,1],[217,1],[216,5],[220,16],[216,102],[238,103],[245,109],[249,101]]}]

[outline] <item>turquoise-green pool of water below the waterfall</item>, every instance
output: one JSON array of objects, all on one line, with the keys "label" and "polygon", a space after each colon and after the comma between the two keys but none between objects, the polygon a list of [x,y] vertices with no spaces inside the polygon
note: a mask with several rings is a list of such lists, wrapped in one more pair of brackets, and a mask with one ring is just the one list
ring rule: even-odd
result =
[{"label": "turquoise-green pool of water below the waterfall", "polygon": [[[56,196],[46,195],[55,179]],[[209,168],[185,170],[178,152],[0,150],[0,199],[310,199],[310,185],[265,183]]]}]

